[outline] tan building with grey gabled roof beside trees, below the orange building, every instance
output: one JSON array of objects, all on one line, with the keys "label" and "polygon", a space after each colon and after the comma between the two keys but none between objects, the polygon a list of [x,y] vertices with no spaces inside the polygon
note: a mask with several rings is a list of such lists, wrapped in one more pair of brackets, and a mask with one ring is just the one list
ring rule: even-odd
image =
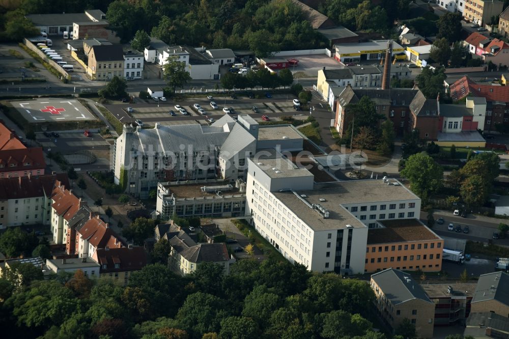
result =
[{"label": "tan building with grey gabled roof beside trees, below the orange building", "polygon": [[410,274],[386,269],[371,276],[371,288],[378,313],[392,332],[406,318],[415,325],[417,337],[433,337],[435,304]]}]

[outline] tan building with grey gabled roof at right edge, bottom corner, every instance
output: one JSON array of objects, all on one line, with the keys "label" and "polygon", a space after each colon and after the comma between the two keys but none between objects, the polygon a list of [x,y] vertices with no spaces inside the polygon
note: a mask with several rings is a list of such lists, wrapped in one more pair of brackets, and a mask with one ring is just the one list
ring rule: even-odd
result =
[{"label": "tan building with grey gabled roof at right edge, bottom corner", "polygon": [[492,312],[509,317],[509,274],[493,272],[482,274],[472,298],[472,313]]}]

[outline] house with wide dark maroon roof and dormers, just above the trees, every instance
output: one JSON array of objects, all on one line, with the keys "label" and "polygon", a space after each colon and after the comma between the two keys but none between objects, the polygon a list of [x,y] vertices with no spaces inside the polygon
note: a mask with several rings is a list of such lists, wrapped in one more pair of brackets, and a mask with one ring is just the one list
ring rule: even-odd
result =
[{"label": "house with wide dark maroon roof and dormers, just above the trees", "polygon": [[121,248],[98,248],[92,260],[100,267],[101,277],[110,277],[116,283],[127,285],[129,277],[147,265],[147,253],[143,247],[128,245]]}]

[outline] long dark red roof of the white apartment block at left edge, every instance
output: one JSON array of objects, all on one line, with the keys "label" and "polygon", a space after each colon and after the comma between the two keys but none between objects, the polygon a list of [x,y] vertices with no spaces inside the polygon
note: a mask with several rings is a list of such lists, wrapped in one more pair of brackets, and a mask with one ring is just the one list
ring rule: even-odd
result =
[{"label": "long dark red roof of the white apartment block at left edge", "polygon": [[67,174],[45,174],[0,179],[0,199],[25,199],[38,196],[51,196],[55,181],[68,183]]}]

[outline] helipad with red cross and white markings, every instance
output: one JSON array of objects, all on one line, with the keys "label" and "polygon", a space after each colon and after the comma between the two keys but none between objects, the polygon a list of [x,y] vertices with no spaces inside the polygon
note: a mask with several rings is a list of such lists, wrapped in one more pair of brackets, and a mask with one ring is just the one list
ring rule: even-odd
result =
[{"label": "helipad with red cross and white markings", "polygon": [[96,120],[94,116],[74,99],[36,99],[11,101],[29,123],[50,121]]}]

